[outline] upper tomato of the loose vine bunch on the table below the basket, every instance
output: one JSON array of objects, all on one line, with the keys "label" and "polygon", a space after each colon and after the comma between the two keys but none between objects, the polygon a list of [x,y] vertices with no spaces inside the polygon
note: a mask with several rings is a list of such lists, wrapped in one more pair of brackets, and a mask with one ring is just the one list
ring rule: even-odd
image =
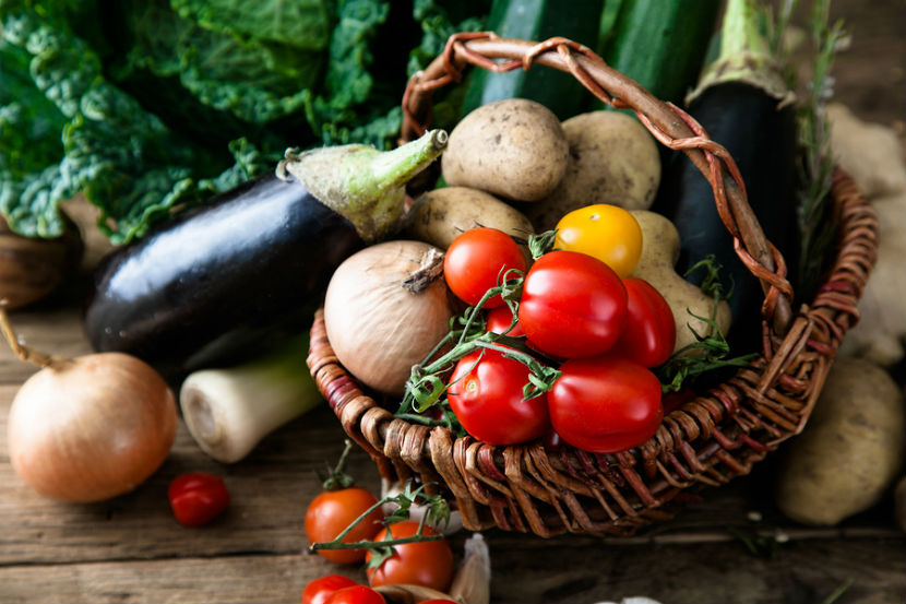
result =
[{"label": "upper tomato of the loose vine bunch on the table below the basket", "polygon": [[[365,510],[378,502],[378,498],[361,487],[325,490],[309,504],[306,510],[306,534],[311,543],[329,542],[336,538],[346,526],[365,513]],[[372,511],[359,522],[343,541],[371,540],[383,524],[380,508]],[[365,559],[363,549],[317,549],[322,557],[338,564],[360,562]]]}]

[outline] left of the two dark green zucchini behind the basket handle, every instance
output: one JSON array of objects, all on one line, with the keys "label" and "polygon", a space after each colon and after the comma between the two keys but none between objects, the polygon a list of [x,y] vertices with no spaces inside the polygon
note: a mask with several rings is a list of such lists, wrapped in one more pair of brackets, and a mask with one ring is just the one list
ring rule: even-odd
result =
[{"label": "left of the two dark green zucchini behind the basket handle", "polygon": [[[543,42],[562,36],[595,48],[604,0],[493,0],[487,28],[503,38]],[[469,75],[463,115],[503,98],[528,98],[546,106],[561,120],[581,114],[591,96],[571,74],[547,68],[493,73],[474,69]]]}]

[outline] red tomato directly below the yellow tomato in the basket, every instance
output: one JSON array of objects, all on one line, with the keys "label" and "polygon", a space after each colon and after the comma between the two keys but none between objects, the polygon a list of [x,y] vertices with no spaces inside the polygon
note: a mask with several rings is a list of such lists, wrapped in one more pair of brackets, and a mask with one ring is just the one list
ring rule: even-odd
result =
[{"label": "red tomato directly below the yellow tomato in the basket", "polygon": [[577,251],[551,251],[525,275],[518,321],[538,351],[565,357],[610,350],[622,331],[627,292],[613,270]]}]

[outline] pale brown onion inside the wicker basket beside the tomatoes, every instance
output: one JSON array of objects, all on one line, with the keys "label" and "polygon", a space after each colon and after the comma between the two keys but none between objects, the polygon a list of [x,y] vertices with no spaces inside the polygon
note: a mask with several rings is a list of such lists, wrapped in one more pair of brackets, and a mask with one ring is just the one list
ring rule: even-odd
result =
[{"label": "pale brown onion inside the wicker basket beside the tomatoes", "polygon": [[438,248],[394,240],[365,248],[334,273],[324,298],[324,325],[339,363],[360,382],[400,395],[413,365],[450,330],[452,295],[442,271],[413,293],[404,282]]}]

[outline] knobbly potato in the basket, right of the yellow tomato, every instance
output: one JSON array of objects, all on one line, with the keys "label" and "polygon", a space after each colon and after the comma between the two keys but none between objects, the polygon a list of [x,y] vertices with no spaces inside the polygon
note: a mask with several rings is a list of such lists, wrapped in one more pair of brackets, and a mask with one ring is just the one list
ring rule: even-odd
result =
[{"label": "knobbly potato in the basket, right of the yellow tomato", "polygon": [[[673,346],[673,352],[677,352],[696,342],[693,330],[700,335],[708,333],[708,323],[695,317],[711,317],[714,313],[714,298],[694,283],[686,281],[673,269],[680,251],[679,233],[673,223],[649,210],[630,210],[630,214],[635,216],[642,228],[642,257],[632,276],[651,283],[670,305],[677,324],[677,342]],[[726,300],[720,300],[717,305],[715,322],[727,335],[730,329],[730,307]]]}]

